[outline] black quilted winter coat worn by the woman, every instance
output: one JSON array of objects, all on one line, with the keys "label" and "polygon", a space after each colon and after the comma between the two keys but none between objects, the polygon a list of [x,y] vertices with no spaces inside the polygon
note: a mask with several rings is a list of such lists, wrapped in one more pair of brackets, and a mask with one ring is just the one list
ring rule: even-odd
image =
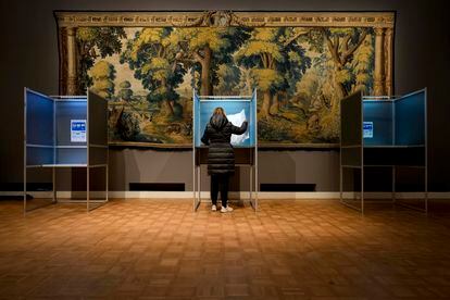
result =
[{"label": "black quilted winter coat worn by the woman", "polygon": [[210,123],[204,128],[201,141],[209,145],[208,174],[235,173],[235,151],[230,143],[232,134],[242,135],[247,130],[247,122],[237,127],[222,114],[211,116]]}]

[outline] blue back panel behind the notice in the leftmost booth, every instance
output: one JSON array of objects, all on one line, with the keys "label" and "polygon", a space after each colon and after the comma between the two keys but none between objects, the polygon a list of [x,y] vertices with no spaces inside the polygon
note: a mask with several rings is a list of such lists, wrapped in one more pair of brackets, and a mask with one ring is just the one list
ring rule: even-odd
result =
[{"label": "blue back panel behind the notice in the leftmost booth", "polygon": [[[77,99],[79,100],[79,99]],[[57,101],[57,146],[85,146],[86,142],[71,141],[71,120],[86,120],[87,101]]]}]

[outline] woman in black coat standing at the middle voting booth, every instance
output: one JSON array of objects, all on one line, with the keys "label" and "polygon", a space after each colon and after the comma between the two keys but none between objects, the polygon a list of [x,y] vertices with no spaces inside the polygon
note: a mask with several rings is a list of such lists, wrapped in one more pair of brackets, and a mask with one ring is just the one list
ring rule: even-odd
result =
[{"label": "woman in black coat standing at the middle voting booth", "polygon": [[217,196],[221,190],[221,212],[230,212],[233,209],[227,204],[228,182],[235,173],[235,151],[230,143],[232,134],[242,135],[247,130],[247,121],[237,127],[228,122],[222,108],[214,109],[214,113],[207,124],[201,141],[210,146],[208,152],[208,174],[211,175],[211,201],[212,211],[217,210]]}]

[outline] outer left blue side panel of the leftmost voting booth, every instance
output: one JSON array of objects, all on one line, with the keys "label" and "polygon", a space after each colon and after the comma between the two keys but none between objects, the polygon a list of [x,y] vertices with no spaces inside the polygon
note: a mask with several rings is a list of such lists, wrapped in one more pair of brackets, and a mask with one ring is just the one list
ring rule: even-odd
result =
[{"label": "outer left blue side panel of the leftmost voting booth", "polygon": [[26,142],[53,145],[53,100],[26,90]]}]

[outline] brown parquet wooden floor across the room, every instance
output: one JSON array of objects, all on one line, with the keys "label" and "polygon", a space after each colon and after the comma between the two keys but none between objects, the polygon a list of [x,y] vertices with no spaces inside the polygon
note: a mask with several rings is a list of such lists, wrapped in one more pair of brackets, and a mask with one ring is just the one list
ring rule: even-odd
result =
[{"label": "brown parquet wooden floor across the room", "polygon": [[20,201],[1,201],[0,298],[450,299],[442,210],[377,204],[362,217],[337,201],[260,204],[221,214],[116,200],[24,217]]}]

